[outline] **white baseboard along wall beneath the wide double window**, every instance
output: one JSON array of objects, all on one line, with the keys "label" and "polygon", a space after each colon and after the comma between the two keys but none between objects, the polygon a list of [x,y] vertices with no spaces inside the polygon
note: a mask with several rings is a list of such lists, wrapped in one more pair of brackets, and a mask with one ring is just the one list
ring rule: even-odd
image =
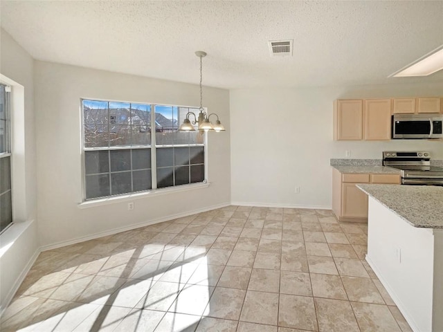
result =
[{"label": "white baseboard along wall beneath the wide double window", "polygon": [[116,233],[125,232],[127,230],[135,230],[136,228],[154,225],[154,223],[163,223],[163,221],[170,221],[173,219],[181,218],[183,216],[190,216],[192,214],[197,214],[197,213],[206,212],[206,211],[210,211],[210,210],[214,210],[214,209],[224,208],[225,206],[228,206],[228,205],[231,205],[231,204],[230,203],[221,203],[221,204],[217,204],[217,205],[211,205],[206,208],[191,210],[188,212],[170,214],[169,216],[163,216],[161,218],[152,219],[149,221],[143,221],[142,223],[135,223],[135,224],[128,225],[128,226],[114,228],[112,230],[107,230],[105,232],[98,232],[95,234],[88,235],[87,237],[78,237],[78,238],[67,240],[67,241],[60,241],[57,243],[48,244],[46,246],[40,247],[39,249],[40,249],[40,251],[46,251],[46,250],[61,248],[64,246],[70,246],[71,244],[80,243],[83,241],[89,241],[89,240],[93,240],[93,239],[98,239],[99,237],[107,237],[108,235],[113,235]]}]

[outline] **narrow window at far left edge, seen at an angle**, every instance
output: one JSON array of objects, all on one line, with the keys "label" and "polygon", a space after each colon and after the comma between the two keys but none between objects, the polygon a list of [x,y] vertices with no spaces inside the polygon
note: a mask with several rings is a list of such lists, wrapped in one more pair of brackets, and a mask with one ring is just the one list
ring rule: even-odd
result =
[{"label": "narrow window at far left edge, seen at an angle", "polygon": [[0,84],[0,232],[11,223],[10,86]]}]

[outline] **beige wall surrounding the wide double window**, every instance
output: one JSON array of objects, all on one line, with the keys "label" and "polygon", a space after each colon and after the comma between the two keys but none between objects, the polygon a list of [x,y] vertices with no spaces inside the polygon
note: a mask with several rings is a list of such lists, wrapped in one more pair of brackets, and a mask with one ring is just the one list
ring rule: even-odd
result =
[{"label": "beige wall surrounding the wide double window", "polygon": [[[162,196],[80,209],[82,159],[80,98],[199,105],[199,88],[134,75],[35,62],[37,183],[41,246],[78,241],[143,223],[168,219],[230,203],[230,142],[226,133],[209,133],[210,186]],[[229,124],[229,92],[204,89],[204,106]]]}]

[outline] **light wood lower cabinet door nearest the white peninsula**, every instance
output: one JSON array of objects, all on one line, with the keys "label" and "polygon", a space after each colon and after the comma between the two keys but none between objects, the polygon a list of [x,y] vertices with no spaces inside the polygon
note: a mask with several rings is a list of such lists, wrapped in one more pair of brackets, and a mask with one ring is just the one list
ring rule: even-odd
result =
[{"label": "light wood lower cabinet door nearest the white peninsula", "polygon": [[354,183],[343,183],[343,216],[368,218],[368,195]]}]

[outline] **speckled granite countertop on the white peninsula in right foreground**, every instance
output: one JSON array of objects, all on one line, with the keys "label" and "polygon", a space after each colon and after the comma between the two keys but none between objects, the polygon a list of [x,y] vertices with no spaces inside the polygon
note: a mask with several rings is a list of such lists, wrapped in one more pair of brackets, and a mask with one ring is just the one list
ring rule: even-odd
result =
[{"label": "speckled granite countertop on the white peninsula in right foreground", "polygon": [[414,227],[443,228],[443,187],[370,184],[357,187]]}]

